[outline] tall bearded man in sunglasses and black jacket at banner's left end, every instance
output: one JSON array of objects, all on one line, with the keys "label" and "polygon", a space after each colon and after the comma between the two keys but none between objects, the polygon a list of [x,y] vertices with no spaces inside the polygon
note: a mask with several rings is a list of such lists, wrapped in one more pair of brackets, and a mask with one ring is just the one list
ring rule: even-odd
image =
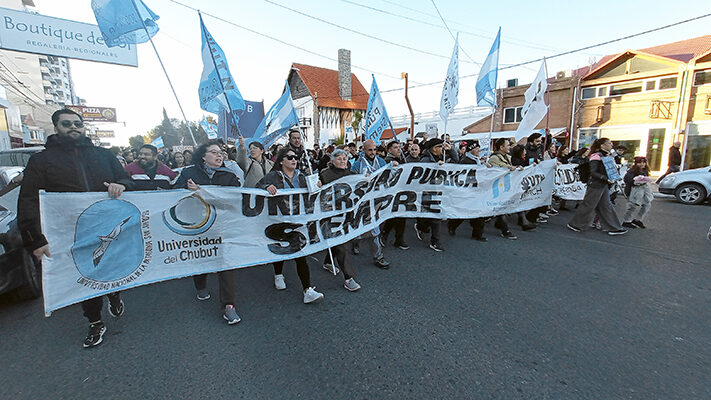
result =
[{"label": "tall bearded man in sunglasses and black jacket at banner's left end", "polygon": [[[51,256],[49,243],[42,234],[39,212],[39,191],[47,192],[104,192],[117,198],[133,184],[113,153],[96,147],[84,134],[86,127],[81,116],[69,109],[52,114],[55,134],[47,138],[45,149],[34,154],[27,167],[17,202],[17,225],[25,248],[42,261]],[[119,317],[124,304],[118,292],[109,298],[109,314]],[[103,297],[94,297],[81,303],[84,316],[89,320],[89,333],[84,347],[93,347],[103,341],[106,326],[101,321]]]}]

